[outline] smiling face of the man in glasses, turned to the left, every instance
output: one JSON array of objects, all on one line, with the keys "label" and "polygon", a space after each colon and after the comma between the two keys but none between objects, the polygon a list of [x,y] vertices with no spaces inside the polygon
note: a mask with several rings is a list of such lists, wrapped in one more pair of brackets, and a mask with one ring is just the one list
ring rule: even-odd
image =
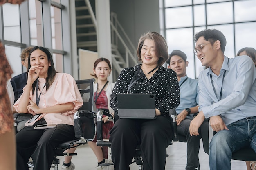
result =
[{"label": "smiling face of the man in glasses, turned to the left", "polygon": [[206,41],[204,37],[200,37],[196,41],[196,47],[200,47],[200,51],[197,50],[197,57],[201,61],[202,66],[211,67],[215,63],[216,56],[218,55],[218,49],[220,49],[220,41],[215,41],[213,45],[209,41]]}]

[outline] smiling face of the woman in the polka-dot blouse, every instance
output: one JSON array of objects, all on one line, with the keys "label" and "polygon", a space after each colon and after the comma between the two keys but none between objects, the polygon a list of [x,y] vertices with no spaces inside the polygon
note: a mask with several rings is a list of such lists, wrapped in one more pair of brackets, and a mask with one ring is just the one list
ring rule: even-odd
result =
[{"label": "smiling face of the woman in the polka-dot blouse", "polygon": [[148,66],[156,66],[159,57],[155,54],[155,42],[151,39],[145,39],[141,48],[140,57],[142,64]]}]

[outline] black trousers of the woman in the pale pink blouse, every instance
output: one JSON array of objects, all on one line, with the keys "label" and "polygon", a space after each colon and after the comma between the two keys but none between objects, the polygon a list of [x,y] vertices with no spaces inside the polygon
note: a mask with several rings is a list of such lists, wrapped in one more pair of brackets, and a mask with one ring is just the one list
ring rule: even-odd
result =
[{"label": "black trousers of the woman in the pale pink blouse", "polygon": [[26,126],[16,134],[17,170],[29,170],[27,163],[33,159],[33,170],[49,170],[54,158],[55,147],[74,140],[74,126],[58,124],[49,129],[34,129]]}]

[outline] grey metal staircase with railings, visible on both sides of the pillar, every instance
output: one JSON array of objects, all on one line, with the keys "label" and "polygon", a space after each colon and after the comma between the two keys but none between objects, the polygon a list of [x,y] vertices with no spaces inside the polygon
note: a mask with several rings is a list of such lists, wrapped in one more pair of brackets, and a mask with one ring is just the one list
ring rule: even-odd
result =
[{"label": "grey metal staircase with railings, visible on both sides of the pillar", "polygon": [[[97,21],[95,0],[75,0],[77,48],[97,52]],[[136,48],[126,35],[115,13],[111,13],[111,44],[113,80],[125,67],[138,64]]]}]

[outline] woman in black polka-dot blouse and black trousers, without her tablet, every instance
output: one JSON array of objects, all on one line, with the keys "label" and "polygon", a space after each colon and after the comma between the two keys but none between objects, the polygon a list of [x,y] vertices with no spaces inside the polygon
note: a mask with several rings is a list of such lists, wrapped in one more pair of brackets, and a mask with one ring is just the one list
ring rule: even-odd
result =
[{"label": "woman in black polka-dot blouse and black trousers, without her tablet", "polygon": [[[168,47],[162,35],[156,32],[142,35],[137,55],[142,64],[121,71],[110,106],[117,116],[118,93],[153,93],[157,118],[115,119],[110,131],[112,160],[115,170],[129,170],[135,148],[141,144],[144,170],[164,170],[166,148],[173,135],[169,109],[175,109],[180,103],[179,83],[173,70],[161,66],[168,58]],[[132,79],[134,83],[130,83]]]}]

